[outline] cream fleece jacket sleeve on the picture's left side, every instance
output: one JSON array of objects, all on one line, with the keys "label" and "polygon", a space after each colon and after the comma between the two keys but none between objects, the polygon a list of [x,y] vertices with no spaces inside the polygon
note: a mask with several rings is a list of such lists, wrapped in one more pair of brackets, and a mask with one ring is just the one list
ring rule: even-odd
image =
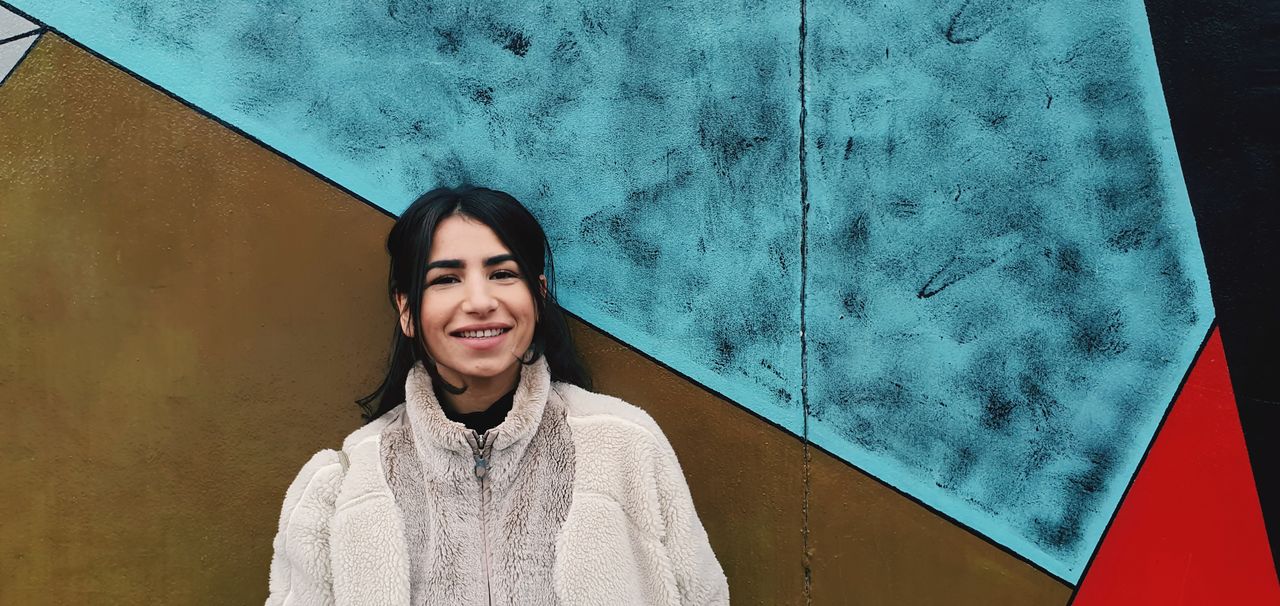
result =
[{"label": "cream fleece jacket sleeve on the picture's left side", "polygon": [[338,454],[324,450],[302,466],[284,493],[280,529],[271,543],[268,606],[332,605],[329,521],[333,519],[342,465]]}]

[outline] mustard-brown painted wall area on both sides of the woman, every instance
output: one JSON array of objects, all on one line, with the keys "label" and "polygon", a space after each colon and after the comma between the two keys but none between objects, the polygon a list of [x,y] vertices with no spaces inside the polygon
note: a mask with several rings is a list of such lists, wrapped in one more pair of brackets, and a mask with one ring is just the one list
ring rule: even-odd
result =
[{"label": "mustard-brown painted wall area on both sides of the woman", "polygon": [[[18,496],[0,501],[0,603],[261,601],[284,488],[358,425],[353,400],[378,379],[390,218],[55,33],[0,87],[0,401],[17,402],[0,486]],[[667,429],[735,603],[805,603],[806,577],[864,603],[1065,600],[876,479],[573,331],[598,387]]]}]

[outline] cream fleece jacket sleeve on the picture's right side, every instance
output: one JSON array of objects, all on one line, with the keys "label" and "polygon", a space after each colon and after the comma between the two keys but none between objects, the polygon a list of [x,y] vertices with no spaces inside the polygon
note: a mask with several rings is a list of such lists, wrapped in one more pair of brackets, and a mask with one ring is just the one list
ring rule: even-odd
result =
[{"label": "cream fleece jacket sleeve on the picture's right side", "polygon": [[663,546],[671,559],[680,603],[685,606],[728,605],[728,582],[716,553],[712,552],[707,530],[694,510],[689,484],[680,469],[676,451],[660,432],[658,438],[654,475],[658,506],[664,528]]}]

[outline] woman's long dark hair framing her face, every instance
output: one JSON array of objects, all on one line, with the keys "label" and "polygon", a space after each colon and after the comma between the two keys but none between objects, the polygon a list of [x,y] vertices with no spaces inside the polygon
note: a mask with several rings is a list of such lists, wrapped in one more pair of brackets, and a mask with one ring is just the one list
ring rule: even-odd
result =
[{"label": "woman's long dark hair framing her face", "polygon": [[[404,210],[387,236],[387,254],[390,255],[390,275],[387,281],[387,293],[396,310],[397,322],[393,327],[392,355],[387,377],[372,393],[357,400],[364,410],[365,422],[371,422],[404,401],[404,381],[413,364],[421,361],[431,375],[434,384],[454,393],[465,387],[445,383],[436,369],[435,360],[422,343],[422,292],[426,288],[426,264],[430,261],[431,240],[440,222],[453,215],[463,215],[483,223],[498,236],[516,258],[520,273],[534,296],[534,309],[538,324],[534,327],[532,346],[524,364],[532,364],[540,356],[547,356],[552,381],[572,383],[589,389],[590,377],[577,357],[573,341],[570,337],[564,314],[556,302],[554,263],[547,234],[538,219],[520,201],[508,193],[484,187],[440,187],[424,193]],[[547,291],[539,275],[547,277]],[[410,322],[413,334],[406,337],[399,325],[397,295],[408,299]]]}]

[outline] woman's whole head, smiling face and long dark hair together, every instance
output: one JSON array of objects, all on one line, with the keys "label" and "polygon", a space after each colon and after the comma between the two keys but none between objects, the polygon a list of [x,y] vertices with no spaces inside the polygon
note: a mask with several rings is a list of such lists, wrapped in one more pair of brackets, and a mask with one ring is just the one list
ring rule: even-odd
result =
[{"label": "woman's whole head, smiling face and long dark hair together", "polygon": [[[424,193],[387,237],[388,295],[399,314],[387,378],[361,400],[378,419],[404,401],[419,361],[436,391],[467,411],[545,356],[552,381],[590,388],[556,304],[554,260],[538,219],[515,197],[480,187]],[[461,331],[509,329],[500,338]],[[421,334],[422,338],[413,338]],[[500,374],[500,377],[498,377]]]}]

